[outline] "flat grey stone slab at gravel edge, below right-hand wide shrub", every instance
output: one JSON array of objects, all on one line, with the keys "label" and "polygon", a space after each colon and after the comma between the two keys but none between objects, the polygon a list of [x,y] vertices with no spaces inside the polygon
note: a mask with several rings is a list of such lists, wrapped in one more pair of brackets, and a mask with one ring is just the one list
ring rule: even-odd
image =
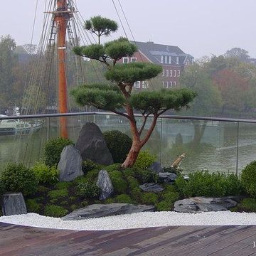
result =
[{"label": "flat grey stone slab at gravel edge, below right-hand wide shrub", "polygon": [[222,198],[206,198],[198,196],[186,198],[174,203],[174,211],[178,213],[201,213],[208,211],[228,210],[237,206],[238,196],[225,196]]}]

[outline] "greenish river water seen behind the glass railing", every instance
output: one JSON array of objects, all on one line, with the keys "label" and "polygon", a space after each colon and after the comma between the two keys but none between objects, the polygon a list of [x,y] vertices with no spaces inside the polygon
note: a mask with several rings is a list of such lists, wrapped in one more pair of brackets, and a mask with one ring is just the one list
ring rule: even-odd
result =
[{"label": "greenish river water seen behind the glass railing", "polygon": [[[69,117],[70,139],[78,138],[82,124],[95,122],[102,132],[118,129],[130,134],[129,124],[117,116]],[[142,120],[138,119],[138,124]],[[192,143],[194,127],[202,127],[203,121],[192,124],[177,119],[159,119],[156,129],[143,149],[157,155],[162,166],[170,166],[180,154],[186,154],[181,163],[185,174],[197,170],[236,173],[256,159],[256,125],[231,122],[208,122],[200,142]],[[146,128],[149,124],[146,125]],[[6,164],[23,162],[33,166],[43,158],[48,139],[59,136],[58,118],[45,119],[40,131],[16,137],[0,137],[0,172]],[[238,157],[238,158],[237,158]]]}]

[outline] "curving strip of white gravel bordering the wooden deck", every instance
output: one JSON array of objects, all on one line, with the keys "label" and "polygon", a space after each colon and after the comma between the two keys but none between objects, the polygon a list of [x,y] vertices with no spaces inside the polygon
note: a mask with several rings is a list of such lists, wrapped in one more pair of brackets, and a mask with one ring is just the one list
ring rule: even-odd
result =
[{"label": "curving strip of white gravel bordering the wooden deck", "polygon": [[65,230],[120,230],[174,225],[256,225],[256,213],[230,211],[205,213],[147,212],[83,220],[61,220],[36,213],[0,217],[0,222]]}]

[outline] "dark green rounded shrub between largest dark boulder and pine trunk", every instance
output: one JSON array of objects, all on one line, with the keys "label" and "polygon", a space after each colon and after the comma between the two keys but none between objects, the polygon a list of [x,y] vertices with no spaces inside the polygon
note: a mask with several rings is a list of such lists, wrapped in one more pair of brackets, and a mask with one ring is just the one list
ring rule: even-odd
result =
[{"label": "dark green rounded shrub between largest dark boulder and pine trunk", "polygon": [[132,139],[117,130],[103,132],[103,135],[114,163],[122,163],[131,149]]}]

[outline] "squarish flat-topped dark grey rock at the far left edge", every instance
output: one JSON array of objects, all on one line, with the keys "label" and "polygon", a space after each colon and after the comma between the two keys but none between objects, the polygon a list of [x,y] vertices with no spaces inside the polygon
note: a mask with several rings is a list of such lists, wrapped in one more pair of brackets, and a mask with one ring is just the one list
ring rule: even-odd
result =
[{"label": "squarish flat-topped dark grey rock at the far left edge", "polygon": [[26,203],[22,193],[5,193],[2,198],[1,209],[3,215],[26,214]]}]

